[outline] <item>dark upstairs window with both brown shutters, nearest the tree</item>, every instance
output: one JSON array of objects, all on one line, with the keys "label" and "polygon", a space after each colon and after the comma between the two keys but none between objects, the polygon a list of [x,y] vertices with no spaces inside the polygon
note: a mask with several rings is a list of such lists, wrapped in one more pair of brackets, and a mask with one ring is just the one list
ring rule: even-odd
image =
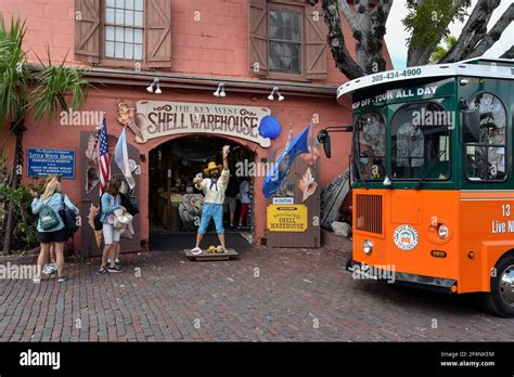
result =
[{"label": "dark upstairs window with both brown shutters, nearest the tree", "polygon": [[326,35],[321,2],[249,0],[249,70],[267,78],[324,79]]}]

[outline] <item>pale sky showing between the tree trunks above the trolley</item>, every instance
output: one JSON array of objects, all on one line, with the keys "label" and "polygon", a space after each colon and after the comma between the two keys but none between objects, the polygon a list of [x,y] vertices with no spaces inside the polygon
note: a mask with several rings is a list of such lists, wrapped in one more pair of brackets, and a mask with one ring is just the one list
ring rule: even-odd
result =
[{"label": "pale sky showing between the tree trunks above the trolley", "polygon": [[[471,14],[473,8],[475,6],[478,0],[472,0],[472,5],[470,6],[467,13]],[[489,21],[488,29],[490,29],[494,23],[500,18],[502,13],[509,8],[509,5],[514,0],[501,0],[500,5],[496,9],[494,13]],[[407,16],[407,8],[406,8],[406,0],[394,0],[393,8],[389,13],[389,17],[387,18],[386,24],[386,36],[385,40],[387,43],[387,48],[389,49],[389,54],[393,61],[393,65],[395,69],[402,69],[406,67],[407,63],[407,46],[406,39],[408,34],[404,30],[404,26],[401,21]],[[450,31],[452,35],[459,37],[461,35],[461,30],[465,25],[464,23],[460,23],[457,21],[453,24],[450,24]],[[401,40],[401,42],[398,42]],[[514,44],[514,24],[511,24],[502,34],[500,40],[498,40],[491,49],[489,49],[484,56],[487,57],[498,57],[503,54],[509,48]]]}]

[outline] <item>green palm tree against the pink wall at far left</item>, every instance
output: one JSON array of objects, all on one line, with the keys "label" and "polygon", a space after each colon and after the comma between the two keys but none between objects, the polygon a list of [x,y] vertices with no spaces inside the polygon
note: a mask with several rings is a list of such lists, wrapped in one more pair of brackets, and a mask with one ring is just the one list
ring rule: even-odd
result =
[{"label": "green palm tree against the pink wall at far left", "polygon": [[[23,162],[23,134],[27,130],[25,120],[40,120],[53,117],[56,112],[68,107],[79,108],[86,101],[88,81],[80,68],[65,66],[65,61],[54,65],[47,49],[48,62],[39,56],[39,65],[29,65],[23,49],[25,22],[12,18],[8,25],[0,17],[0,128],[10,125],[16,138],[13,171],[10,179],[12,188],[20,185],[18,166]],[[66,96],[70,94],[69,106]],[[13,232],[13,207],[8,205],[3,253],[11,252]]]}]

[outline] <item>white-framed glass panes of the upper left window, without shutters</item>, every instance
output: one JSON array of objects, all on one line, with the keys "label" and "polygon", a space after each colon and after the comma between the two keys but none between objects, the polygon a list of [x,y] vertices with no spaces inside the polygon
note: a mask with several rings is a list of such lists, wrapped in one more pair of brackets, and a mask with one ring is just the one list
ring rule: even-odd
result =
[{"label": "white-framed glass panes of the upper left window, without shutters", "polygon": [[143,0],[105,1],[105,56],[143,60]]}]

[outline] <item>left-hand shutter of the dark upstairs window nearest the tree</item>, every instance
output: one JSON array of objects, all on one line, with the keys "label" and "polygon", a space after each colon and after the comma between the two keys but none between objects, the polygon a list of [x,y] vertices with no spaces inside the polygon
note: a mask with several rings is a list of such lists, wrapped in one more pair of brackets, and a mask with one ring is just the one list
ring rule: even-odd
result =
[{"label": "left-hand shutter of the dark upstairs window nearest the tree", "polygon": [[257,76],[268,75],[268,2],[250,0],[248,12],[249,72]]}]

